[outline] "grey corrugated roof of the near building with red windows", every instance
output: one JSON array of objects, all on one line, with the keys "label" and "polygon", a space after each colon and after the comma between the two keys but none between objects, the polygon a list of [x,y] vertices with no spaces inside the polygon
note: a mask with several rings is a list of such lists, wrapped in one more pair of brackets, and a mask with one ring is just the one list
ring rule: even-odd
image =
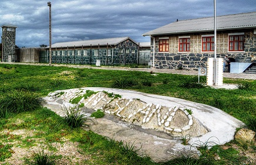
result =
[{"label": "grey corrugated roof of the near building with red windows", "polygon": [[[256,12],[217,16],[217,30],[244,29],[256,27]],[[214,30],[214,16],[208,18],[178,20],[144,33],[154,36],[174,33],[207,32]]]}]

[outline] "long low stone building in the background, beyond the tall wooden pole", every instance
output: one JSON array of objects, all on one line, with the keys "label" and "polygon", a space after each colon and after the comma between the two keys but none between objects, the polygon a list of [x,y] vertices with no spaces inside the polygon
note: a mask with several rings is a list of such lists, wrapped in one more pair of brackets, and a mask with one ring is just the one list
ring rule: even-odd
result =
[{"label": "long low stone building in the background, beyond the tall wooden pole", "polygon": [[[100,64],[110,66],[147,64],[150,60],[150,43],[140,45],[130,37],[60,42],[51,47],[53,64],[96,64],[100,61]],[[40,62],[49,62],[49,47],[41,53]]]}]

